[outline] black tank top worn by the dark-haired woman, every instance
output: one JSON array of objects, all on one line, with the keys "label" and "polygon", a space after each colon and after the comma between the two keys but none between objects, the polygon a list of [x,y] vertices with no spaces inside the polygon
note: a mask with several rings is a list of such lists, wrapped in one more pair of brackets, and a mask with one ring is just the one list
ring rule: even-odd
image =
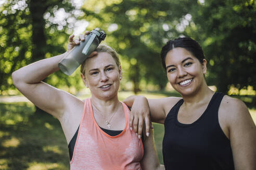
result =
[{"label": "black tank top worn by the dark-haired woman", "polygon": [[229,139],[221,129],[218,111],[224,94],[215,93],[201,117],[191,124],[178,122],[178,101],[164,121],[165,169],[234,169]]}]

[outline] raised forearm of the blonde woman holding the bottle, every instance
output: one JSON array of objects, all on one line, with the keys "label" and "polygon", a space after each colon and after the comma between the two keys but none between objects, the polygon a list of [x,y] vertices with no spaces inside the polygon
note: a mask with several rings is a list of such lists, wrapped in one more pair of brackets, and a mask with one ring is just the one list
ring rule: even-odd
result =
[{"label": "raised forearm of the blonde woman holding the bottle", "polygon": [[24,66],[12,73],[15,86],[18,82],[35,84],[45,79],[50,74],[59,70],[59,61],[67,54],[63,53],[52,58],[43,59]]}]

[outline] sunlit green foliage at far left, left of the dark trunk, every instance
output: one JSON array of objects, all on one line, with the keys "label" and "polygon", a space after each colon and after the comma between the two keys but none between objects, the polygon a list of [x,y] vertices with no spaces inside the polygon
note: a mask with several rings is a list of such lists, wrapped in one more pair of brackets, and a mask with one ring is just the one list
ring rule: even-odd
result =
[{"label": "sunlit green foliage at far left, left of the dark trunk", "polygon": [[[21,60],[21,58],[25,56],[27,51],[31,51],[29,11],[12,10],[13,4],[11,2],[0,8],[1,90],[11,86],[10,73],[28,64],[28,60]],[[31,57],[28,53],[26,56],[28,59]]]}]

